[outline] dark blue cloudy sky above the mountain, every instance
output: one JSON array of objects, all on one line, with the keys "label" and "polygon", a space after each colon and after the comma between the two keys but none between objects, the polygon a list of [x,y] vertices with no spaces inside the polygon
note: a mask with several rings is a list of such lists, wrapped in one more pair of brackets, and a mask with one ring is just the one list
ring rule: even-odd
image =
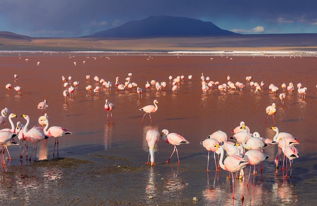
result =
[{"label": "dark blue cloudy sky above the mountain", "polygon": [[0,31],[77,37],[148,16],[210,21],[237,33],[317,33],[314,0],[2,0]]}]

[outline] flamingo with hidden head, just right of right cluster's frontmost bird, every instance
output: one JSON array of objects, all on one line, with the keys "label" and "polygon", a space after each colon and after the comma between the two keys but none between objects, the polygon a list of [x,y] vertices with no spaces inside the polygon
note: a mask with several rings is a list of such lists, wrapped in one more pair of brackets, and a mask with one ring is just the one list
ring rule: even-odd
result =
[{"label": "flamingo with hidden head, just right of right cluster's frontmost bird", "polygon": [[251,150],[248,150],[244,154],[243,158],[245,158],[247,161],[250,162],[250,172],[249,172],[247,185],[249,184],[251,167],[253,166],[254,167],[254,169],[253,169],[253,186],[255,186],[255,184],[254,184],[254,176],[256,174],[255,167],[257,164],[259,164],[260,162],[263,162],[265,159],[267,159],[268,156],[266,154],[264,154],[261,150],[251,149]]}]

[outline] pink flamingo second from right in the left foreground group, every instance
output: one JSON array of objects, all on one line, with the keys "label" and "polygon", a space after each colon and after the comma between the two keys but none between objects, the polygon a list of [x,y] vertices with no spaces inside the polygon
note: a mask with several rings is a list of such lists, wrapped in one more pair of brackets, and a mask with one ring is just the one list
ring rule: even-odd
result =
[{"label": "pink flamingo second from right in the left foreground group", "polygon": [[42,140],[45,140],[49,137],[44,134],[43,129],[40,127],[34,126],[30,130],[28,130],[27,127],[30,123],[30,117],[25,114],[22,114],[22,116],[26,120],[25,126],[23,128],[23,138],[25,141],[33,143],[33,149],[32,149],[29,161],[31,161],[31,157],[32,157],[34,149],[35,149],[35,157],[34,157],[34,161],[35,161],[36,160],[36,143],[41,142]]}]

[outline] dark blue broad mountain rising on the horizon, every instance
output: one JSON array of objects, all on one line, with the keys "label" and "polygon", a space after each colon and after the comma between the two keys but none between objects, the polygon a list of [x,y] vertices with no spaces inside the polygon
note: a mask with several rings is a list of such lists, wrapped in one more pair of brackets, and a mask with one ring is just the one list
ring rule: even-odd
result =
[{"label": "dark blue broad mountain rising on the horizon", "polygon": [[153,38],[153,37],[203,37],[240,35],[223,30],[212,22],[187,17],[150,16],[129,21],[116,28],[99,31],[82,37]]}]

